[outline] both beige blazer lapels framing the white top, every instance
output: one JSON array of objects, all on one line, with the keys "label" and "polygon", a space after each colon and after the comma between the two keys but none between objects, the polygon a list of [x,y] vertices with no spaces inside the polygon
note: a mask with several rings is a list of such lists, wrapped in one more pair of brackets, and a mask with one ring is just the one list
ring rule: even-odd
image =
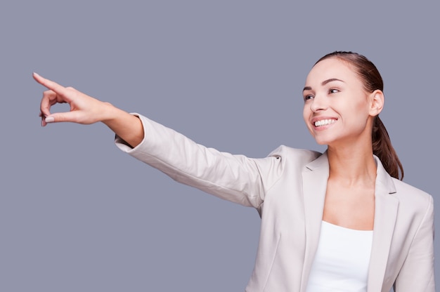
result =
[{"label": "both beige blazer lapels framing the white top", "polygon": [[[396,187],[391,176],[385,171],[376,156],[374,156],[374,159],[377,164],[375,222],[368,272],[368,291],[382,291],[382,282],[387,267],[399,200],[390,195],[396,193]],[[324,152],[320,157],[307,164],[302,171],[306,232],[304,272],[302,274],[302,290],[304,289],[304,291],[318,247],[329,169],[327,152]]]}]

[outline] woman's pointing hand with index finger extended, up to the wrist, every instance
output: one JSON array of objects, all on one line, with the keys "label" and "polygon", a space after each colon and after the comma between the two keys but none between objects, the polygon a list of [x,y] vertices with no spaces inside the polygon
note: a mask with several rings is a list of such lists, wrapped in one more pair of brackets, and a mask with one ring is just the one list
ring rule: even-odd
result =
[{"label": "woman's pointing hand with index finger extended, up to the wrist", "polygon": [[[45,79],[34,73],[33,77],[42,86],[48,88],[44,91],[40,105],[41,125],[48,123],[71,121],[78,124],[93,124],[97,121],[110,119],[112,106],[108,102],[101,102],[91,96],[77,91],[72,87],[64,87],[54,81]],[[70,112],[51,114],[51,107],[57,103],[68,103]]]}]

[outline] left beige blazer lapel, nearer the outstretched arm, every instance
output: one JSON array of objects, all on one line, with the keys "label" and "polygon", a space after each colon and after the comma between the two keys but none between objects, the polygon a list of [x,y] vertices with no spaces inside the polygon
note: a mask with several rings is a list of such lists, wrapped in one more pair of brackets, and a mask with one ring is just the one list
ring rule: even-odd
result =
[{"label": "left beige blazer lapel, nearer the outstretched arm", "polygon": [[318,247],[321,222],[323,220],[328,173],[327,152],[307,164],[302,171],[306,250],[301,291],[305,291],[306,289],[306,284],[309,281],[309,272],[316,253],[316,248]]}]

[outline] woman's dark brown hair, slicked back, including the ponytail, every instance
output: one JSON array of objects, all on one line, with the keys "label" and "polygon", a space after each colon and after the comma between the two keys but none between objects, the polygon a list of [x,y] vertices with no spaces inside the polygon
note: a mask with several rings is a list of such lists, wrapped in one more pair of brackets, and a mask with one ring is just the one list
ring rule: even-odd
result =
[{"label": "woman's dark brown hair, slicked back, including the ponytail", "polygon": [[[365,56],[353,52],[335,51],[323,56],[318,62],[328,58],[338,58],[351,65],[358,74],[358,77],[363,81],[365,91],[373,92],[377,89],[380,91],[384,90],[384,82],[382,81],[379,70],[377,70],[373,62],[365,58]],[[318,62],[316,62],[315,65]],[[396,150],[394,150],[391,144],[387,129],[384,124],[382,124],[379,116],[376,116],[373,120],[371,137],[373,139],[373,154],[379,157],[389,175],[402,180],[403,166],[399,157],[397,157]]]}]

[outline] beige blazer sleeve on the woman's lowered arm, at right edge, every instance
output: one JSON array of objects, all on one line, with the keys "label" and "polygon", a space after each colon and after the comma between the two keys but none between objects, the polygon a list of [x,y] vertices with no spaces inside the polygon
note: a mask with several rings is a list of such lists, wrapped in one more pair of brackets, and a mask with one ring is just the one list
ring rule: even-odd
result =
[{"label": "beige blazer sleeve on the woman's lowered arm, at right edge", "polygon": [[434,204],[432,196],[394,284],[395,292],[434,292]]}]

